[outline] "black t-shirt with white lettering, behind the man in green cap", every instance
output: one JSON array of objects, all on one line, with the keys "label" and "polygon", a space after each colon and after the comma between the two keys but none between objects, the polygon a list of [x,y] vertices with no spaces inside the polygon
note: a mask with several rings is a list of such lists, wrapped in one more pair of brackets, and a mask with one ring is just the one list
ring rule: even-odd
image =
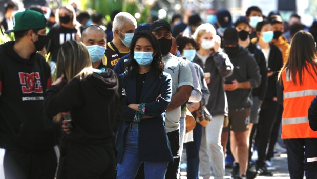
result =
[{"label": "black t-shirt with white lettering, behind the man in green cap", "polygon": [[57,53],[60,46],[71,39],[76,39],[77,29],[72,28],[65,28],[60,26],[59,24],[54,25],[48,36],[50,37],[50,42],[47,46],[48,52],[51,52],[51,57],[54,62],[57,61]]}]

